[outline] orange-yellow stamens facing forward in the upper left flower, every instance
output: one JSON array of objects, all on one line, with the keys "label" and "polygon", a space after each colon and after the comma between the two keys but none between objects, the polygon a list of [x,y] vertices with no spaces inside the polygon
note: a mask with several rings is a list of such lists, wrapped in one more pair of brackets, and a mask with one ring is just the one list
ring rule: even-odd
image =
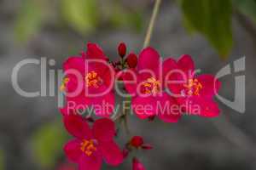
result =
[{"label": "orange-yellow stamens facing forward in the upper left flower", "polygon": [[102,84],[102,78],[98,76],[96,71],[90,71],[85,76],[85,86],[99,88]]}]

